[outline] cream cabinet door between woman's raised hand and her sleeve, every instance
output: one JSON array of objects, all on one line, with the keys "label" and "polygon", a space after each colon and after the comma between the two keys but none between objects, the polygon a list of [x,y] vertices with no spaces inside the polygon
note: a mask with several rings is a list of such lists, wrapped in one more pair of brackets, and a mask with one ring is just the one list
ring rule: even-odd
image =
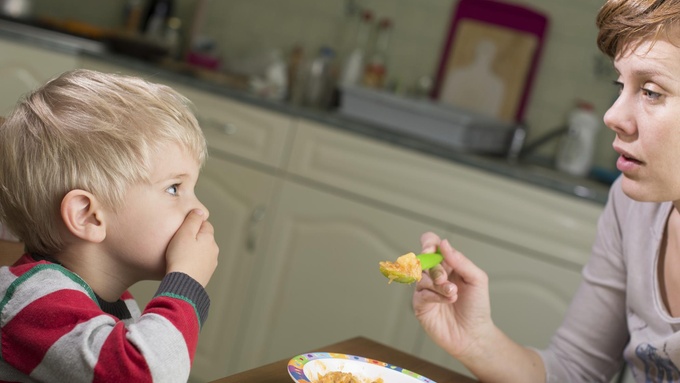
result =
[{"label": "cream cabinet door between woman's raised hand and her sleeve", "polygon": [[[520,254],[507,245],[457,233],[446,235],[455,248],[488,274],[491,316],[496,326],[519,344],[547,346],[581,282],[580,271]],[[427,337],[417,354],[470,375]]]}]

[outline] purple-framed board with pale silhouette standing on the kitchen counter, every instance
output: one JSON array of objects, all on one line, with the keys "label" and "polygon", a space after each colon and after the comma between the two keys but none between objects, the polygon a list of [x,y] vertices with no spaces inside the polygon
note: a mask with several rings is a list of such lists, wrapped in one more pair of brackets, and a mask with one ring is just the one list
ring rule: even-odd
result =
[{"label": "purple-framed board with pale silhouette standing on the kitchen counter", "polygon": [[495,0],[460,0],[435,77],[432,98],[521,122],[536,73],[545,15]]}]

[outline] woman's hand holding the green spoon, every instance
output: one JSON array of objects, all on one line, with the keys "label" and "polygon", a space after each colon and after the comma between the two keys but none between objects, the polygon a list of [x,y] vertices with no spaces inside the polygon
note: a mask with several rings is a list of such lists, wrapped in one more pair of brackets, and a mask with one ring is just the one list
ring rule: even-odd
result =
[{"label": "woman's hand holding the green spoon", "polygon": [[491,320],[488,277],[434,233],[420,238],[422,252],[439,249],[444,261],[425,272],[413,294],[415,315],[429,336],[458,359],[473,358],[496,334]]}]

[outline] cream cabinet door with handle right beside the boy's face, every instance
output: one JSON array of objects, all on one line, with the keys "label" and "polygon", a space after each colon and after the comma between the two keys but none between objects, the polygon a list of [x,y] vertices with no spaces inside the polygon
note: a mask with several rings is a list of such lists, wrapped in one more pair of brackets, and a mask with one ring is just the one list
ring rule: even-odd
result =
[{"label": "cream cabinet door with handle right beside the boy's face", "polygon": [[[192,381],[206,382],[242,370],[234,358],[244,342],[243,316],[254,303],[246,290],[253,274],[262,267],[256,253],[266,236],[266,218],[276,178],[248,167],[211,156],[204,167],[196,194],[210,211],[219,264],[207,286],[211,305],[201,329]],[[130,290],[144,307],[158,282],[141,282]]]}]

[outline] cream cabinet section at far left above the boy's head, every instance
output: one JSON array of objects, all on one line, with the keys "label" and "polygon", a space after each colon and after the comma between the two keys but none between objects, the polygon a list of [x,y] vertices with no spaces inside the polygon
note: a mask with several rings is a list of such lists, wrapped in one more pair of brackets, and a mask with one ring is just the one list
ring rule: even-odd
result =
[{"label": "cream cabinet section at far left above the boy's head", "polygon": [[9,40],[0,40],[0,52],[0,116],[8,114],[22,95],[77,65],[72,54]]}]

